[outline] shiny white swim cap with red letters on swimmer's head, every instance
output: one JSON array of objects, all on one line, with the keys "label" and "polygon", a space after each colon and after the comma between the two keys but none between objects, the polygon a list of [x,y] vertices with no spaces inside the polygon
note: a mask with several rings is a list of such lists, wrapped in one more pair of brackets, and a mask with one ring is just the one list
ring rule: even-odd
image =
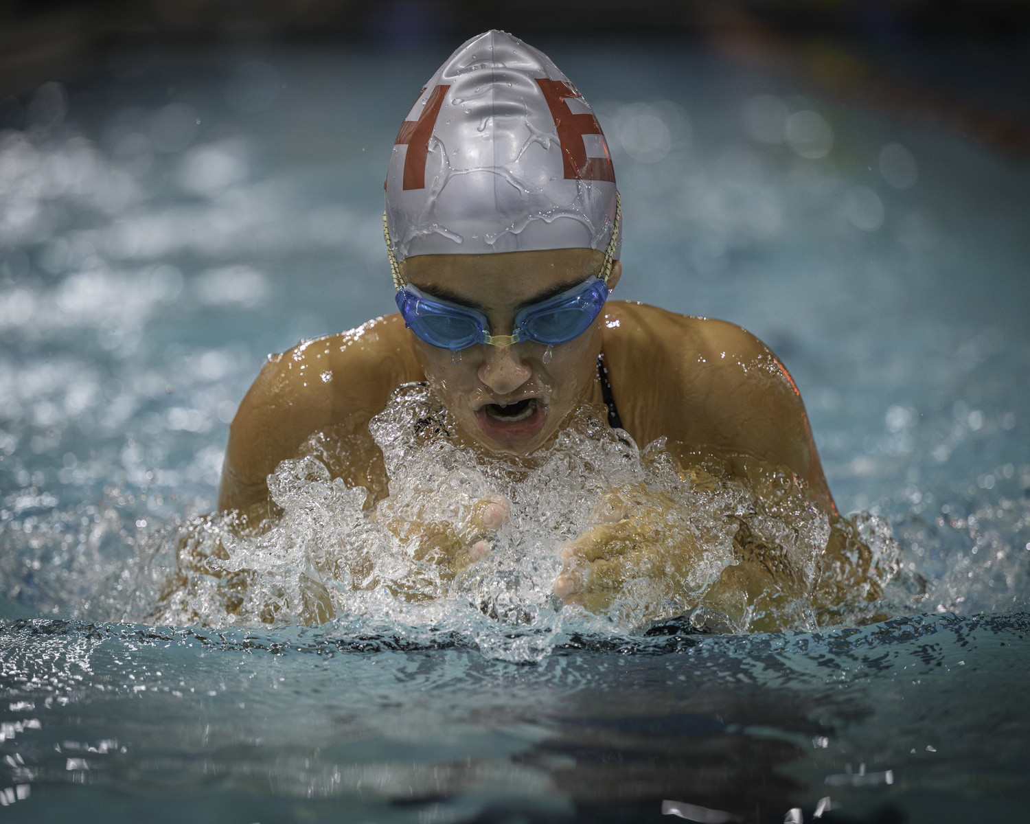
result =
[{"label": "shiny white swim cap with red letters on swimmer's head", "polygon": [[385,186],[398,261],[605,251],[615,225],[615,171],[593,110],[546,55],[501,31],[473,37],[430,78]]}]

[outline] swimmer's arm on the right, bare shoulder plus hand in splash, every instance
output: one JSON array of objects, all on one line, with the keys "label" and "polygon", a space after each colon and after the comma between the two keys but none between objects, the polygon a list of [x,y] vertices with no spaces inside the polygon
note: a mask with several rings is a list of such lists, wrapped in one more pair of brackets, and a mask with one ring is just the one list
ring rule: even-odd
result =
[{"label": "swimmer's arm on the right, bare shoulder plus hand in splash", "polygon": [[[665,437],[681,459],[714,455],[742,475],[747,473],[742,455],[785,467],[827,514],[836,514],[800,394],[761,341],[723,321],[648,306],[610,307],[605,359],[615,377],[616,406],[638,443]],[[655,513],[671,512],[675,505],[628,486],[609,494],[625,499],[621,509],[612,506],[608,512],[600,502],[593,525],[563,547],[554,589],[566,604],[605,609],[627,580],[642,577],[651,579],[657,595],[668,595],[670,586],[672,594],[684,594],[677,593],[675,580],[689,579],[702,547],[689,536],[667,543],[668,537],[661,537],[664,515]]]}]

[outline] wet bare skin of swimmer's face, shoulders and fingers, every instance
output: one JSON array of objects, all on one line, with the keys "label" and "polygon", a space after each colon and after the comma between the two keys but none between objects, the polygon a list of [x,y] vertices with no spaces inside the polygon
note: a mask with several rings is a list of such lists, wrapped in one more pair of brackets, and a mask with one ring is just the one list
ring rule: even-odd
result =
[{"label": "wet bare skin of swimmer's face, shoulders and fingers", "polygon": [[[596,274],[600,265],[600,252],[559,249],[420,255],[401,267],[409,282],[479,309],[491,334],[509,335],[523,305]],[[620,276],[616,264],[609,283]],[[369,485],[381,455],[368,422],[393,389],[412,381],[430,383],[471,448],[533,452],[580,403],[602,403],[596,364],[604,352],[623,425],[642,447],[664,436],[680,456],[744,455],[786,468],[805,482],[816,504],[835,514],[794,382],[740,327],[610,300],[583,335],[553,347],[548,363],[545,352],[528,341],[480,344],[462,350],[455,363],[450,350],[419,340],[394,314],[273,356],[231,426],[218,507],[251,518],[271,514],[267,476],[295,457],[309,436],[329,427],[358,447],[341,474]],[[506,516],[506,503],[484,502],[481,526],[496,528]],[[587,543],[596,544],[596,535]],[[487,551],[480,542],[469,556],[476,560]],[[555,590],[575,602],[584,584],[570,551],[575,546],[563,553],[568,574]]]}]

